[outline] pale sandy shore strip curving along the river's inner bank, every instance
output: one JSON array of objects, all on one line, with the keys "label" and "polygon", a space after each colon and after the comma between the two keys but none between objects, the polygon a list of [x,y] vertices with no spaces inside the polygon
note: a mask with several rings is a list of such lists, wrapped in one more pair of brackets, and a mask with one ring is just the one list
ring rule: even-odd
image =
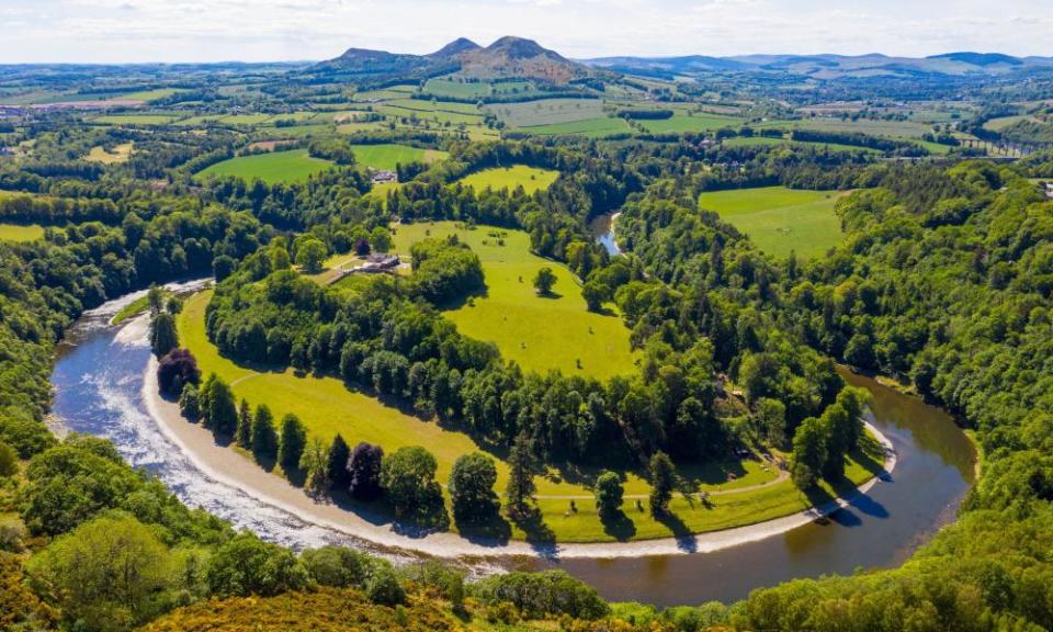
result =
[{"label": "pale sandy shore strip curving along the river's inner bank", "polygon": [[[341,509],[336,505],[314,500],[285,478],[265,472],[256,463],[229,448],[217,445],[212,432],[183,419],[179,406],[165,400],[158,393],[157,360],[152,357],[144,374],[143,399],[146,403],[147,411],[161,431],[205,475],[237,488],[262,503],[294,514],[307,522],[382,546],[437,557],[530,555],[610,558],[706,553],[763,540],[807,524],[850,505],[853,498],[864,494],[879,482],[878,477],[871,478],[859,487],[856,495],[848,499],[838,498],[823,506],[783,518],[747,527],[700,533],[690,538],[664,538],[638,542],[598,542],[592,544],[532,544],[510,541],[489,545],[466,540],[456,533],[431,533],[423,537],[399,533],[390,523],[371,522],[366,518]],[[887,454],[885,471],[891,473],[896,466],[896,456],[892,443],[873,426],[868,424],[868,428],[885,447]]]}]

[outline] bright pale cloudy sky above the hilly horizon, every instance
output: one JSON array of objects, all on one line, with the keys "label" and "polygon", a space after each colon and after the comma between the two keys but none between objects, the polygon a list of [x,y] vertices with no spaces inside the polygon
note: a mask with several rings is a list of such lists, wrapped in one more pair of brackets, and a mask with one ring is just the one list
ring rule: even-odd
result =
[{"label": "bright pale cloudy sky above the hilly horizon", "polygon": [[0,0],[0,64],[279,61],[460,36],[567,57],[1053,56],[1053,0]]}]

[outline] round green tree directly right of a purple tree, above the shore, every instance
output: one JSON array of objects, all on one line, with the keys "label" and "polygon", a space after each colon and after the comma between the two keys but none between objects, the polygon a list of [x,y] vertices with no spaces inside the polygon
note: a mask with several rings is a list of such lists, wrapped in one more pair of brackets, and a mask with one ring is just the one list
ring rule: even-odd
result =
[{"label": "round green tree directly right of a purple tree, above the shore", "polygon": [[435,483],[439,465],[420,445],[399,448],[381,463],[381,486],[398,517],[427,517],[442,505]]}]

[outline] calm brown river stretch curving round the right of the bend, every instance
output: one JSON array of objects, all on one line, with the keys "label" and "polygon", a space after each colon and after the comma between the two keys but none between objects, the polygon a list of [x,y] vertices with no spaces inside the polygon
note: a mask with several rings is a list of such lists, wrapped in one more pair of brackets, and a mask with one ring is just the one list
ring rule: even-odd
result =
[{"label": "calm brown river stretch curving round the right of the bend", "polygon": [[788,579],[902,564],[953,520],[973,481],[976,453],[942,410],[869,377],[842,374],[873,394],[870,420],[892,441],[898,463],[890,481],[874,485],[823,523],[713,553],[523,560],[512,566],[564,568],[608,599],[669,606],[732,601]]}]

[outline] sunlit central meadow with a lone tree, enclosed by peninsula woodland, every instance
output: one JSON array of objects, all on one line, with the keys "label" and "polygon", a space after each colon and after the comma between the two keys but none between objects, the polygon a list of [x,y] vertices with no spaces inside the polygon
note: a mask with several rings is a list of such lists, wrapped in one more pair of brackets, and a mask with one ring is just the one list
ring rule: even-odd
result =
[{"label": "sunlit central meadow with a lone tree, enclosed by peninsula woodland", "polygon": [[[495,236],[496,232],[502,236]],[[633,372],[635,354],[622,319],[589,312],[570,271],[532,255],[530,237],[522,230],[467,230],[452,222],[406,224],[397,228],[395,248],[408,256],[412,244],[448,235],[456,235],[472,247],[486,274],[485,296],[446,313],[461,332],[495,342],[505,358],[539,373],[556,369],[605,380]],[[546,267],[558,279],[554,297],[534,291],[533,279]]]}]

